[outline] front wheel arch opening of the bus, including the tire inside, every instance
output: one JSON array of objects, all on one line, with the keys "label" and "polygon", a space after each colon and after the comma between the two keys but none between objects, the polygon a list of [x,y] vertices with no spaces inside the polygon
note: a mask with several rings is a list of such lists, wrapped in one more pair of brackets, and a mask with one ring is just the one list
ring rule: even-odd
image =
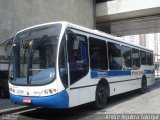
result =
[{"label": "front wheel arch opening of the bus, including the tire inside", "polygon": [[96,92],[95,92],[95,101],[94,108],[102,109],[106,106],[107,98],[109,97],[109,84],[106,79],[101,79],[98,82]]}]

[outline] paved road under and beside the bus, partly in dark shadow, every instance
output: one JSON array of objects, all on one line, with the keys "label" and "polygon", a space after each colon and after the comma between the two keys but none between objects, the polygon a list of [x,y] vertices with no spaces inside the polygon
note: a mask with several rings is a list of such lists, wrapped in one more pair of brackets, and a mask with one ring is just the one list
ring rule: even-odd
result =
[{"label": "paved road under and beside the bus, partly in dark shadow", "polygon": [[[69,110],[34,109],[14,113],[15,120],[100,120],[107,114],[160,114],[160,80],[147,93],[139,94],[133,91],[111,97],[102,110],[93,110],[88,105]],[[2,118],[5,118],[3,115]],[[14,120],[14,119],[13,119]]]}]

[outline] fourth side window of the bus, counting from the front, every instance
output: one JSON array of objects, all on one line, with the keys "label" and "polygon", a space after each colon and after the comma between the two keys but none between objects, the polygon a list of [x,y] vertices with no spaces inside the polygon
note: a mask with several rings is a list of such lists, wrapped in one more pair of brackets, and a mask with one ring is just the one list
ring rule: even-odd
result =
[{"label": "fourth side window of the bus, counting from the front", "polygon": [[132,52],[131,48],[121,46],[123,69],[132,69]]}]

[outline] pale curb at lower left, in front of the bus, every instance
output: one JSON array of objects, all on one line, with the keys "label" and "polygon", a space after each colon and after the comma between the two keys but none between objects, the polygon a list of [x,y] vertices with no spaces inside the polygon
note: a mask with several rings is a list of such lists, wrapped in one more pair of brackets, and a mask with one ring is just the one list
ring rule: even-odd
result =
[{"label": "pale curb at lower left, in front of the bus", "polygon": [[26,110],[26,109],[29,109],[29,108],[30,107],[28,107],[28,106],[20,106],[20,107],[3,109],[3,110],[0,110],[0,115],[2,115],[2,114],[9,114],[9,113],[13,113],[13,112],[18,112],[18,111]]}]

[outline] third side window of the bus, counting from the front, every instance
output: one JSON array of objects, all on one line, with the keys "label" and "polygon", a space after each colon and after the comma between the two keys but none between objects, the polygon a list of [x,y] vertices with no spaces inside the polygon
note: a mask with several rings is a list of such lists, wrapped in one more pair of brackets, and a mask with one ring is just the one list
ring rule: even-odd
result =
[{"label": "third side window of the bus, counting from the front", "polygon": [[108,42],[108,58],[111,70],[122,69],[121,47],[119,44]]}]

